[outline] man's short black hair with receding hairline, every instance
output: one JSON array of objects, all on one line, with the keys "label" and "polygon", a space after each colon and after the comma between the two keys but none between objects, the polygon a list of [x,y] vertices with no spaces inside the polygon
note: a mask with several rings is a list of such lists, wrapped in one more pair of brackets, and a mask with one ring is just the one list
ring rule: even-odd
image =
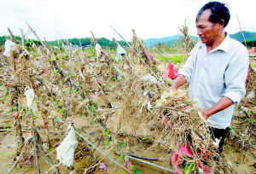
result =
[{"label": "man's short black hair with receding hairline", "polygon": [[206,9],[211,9],[212,14],[210,15],[210,21],[213,24],[216,24],[217,22],[221,22],[221,20],[224,20],[224,27],[228,25],[230,21],[230,10],[226,7],[224,3],[219,2],[210,2],[205,4],[196,15],[195,21],[198,20],[199,16],[205,11]]}]

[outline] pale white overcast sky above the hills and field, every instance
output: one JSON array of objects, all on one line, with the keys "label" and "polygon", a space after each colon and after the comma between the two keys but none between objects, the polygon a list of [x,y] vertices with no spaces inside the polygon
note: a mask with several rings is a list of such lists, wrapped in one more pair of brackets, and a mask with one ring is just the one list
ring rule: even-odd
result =
[{"label": "pale white overcast sky above the hills and field", "polygon": [[[2,1],[2,2],[1,2]],[[195,16],[209,0],[0,0],[0,36],[9,35],[8,27],[20,36],[35,38],[26,26],[32,26],[39,38],[117,38],[111,25],[128,41],[134,29],[137,37],[164,38],[179,34],[178,27],[189,26],[196,36]],[[255,0],[222,0],[230,8],[226,32],[256,32]],[[240,25],[238,19],[240,21]]]}]

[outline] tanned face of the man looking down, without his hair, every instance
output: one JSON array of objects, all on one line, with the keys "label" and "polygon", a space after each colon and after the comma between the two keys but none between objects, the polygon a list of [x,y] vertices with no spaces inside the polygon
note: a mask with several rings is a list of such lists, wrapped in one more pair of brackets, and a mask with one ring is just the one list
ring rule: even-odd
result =
[{"label": "tanned face of the man looking down, without his hair", "polygon": [[196,21],[197,35],[201,38],[201,42],[207,45],[212,45],[220,32],[219,24],[212,24],[209,20],[211,14],[212,10],[206,9]]}]

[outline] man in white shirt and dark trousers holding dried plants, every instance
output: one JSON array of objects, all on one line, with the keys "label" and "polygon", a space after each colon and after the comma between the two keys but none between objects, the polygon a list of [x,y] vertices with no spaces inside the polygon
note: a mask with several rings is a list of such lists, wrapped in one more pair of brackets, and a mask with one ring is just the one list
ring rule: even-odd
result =
[{"label": "man in white shirt and dark trousers holding dried plants", "polygon": [[[221,154],[227,127],[234,107],[245,96],[249,66],[247,49],[224,32],[230,20],[224,3],[205,4],[196,16],[197,34],[201,42],[192,49],[183,68],[168,90],[177,90],[189,83],[189,97],[218,138]],[[216,140],[216,139],[214,139]]]}]

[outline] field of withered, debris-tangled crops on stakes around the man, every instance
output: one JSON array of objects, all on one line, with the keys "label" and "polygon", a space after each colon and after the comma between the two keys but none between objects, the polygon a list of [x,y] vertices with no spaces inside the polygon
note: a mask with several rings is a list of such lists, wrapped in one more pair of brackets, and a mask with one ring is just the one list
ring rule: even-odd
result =
[{"label": "field of withered, debris-tangled crops on stakes around the man", "polygon": [[[24,46],[0,57],[0,173],[253,173],[255,57],[224,153],[187,87],[170,92],[189,56],[129,46]],[[182,59],[177,61],[177,57]]]}]

